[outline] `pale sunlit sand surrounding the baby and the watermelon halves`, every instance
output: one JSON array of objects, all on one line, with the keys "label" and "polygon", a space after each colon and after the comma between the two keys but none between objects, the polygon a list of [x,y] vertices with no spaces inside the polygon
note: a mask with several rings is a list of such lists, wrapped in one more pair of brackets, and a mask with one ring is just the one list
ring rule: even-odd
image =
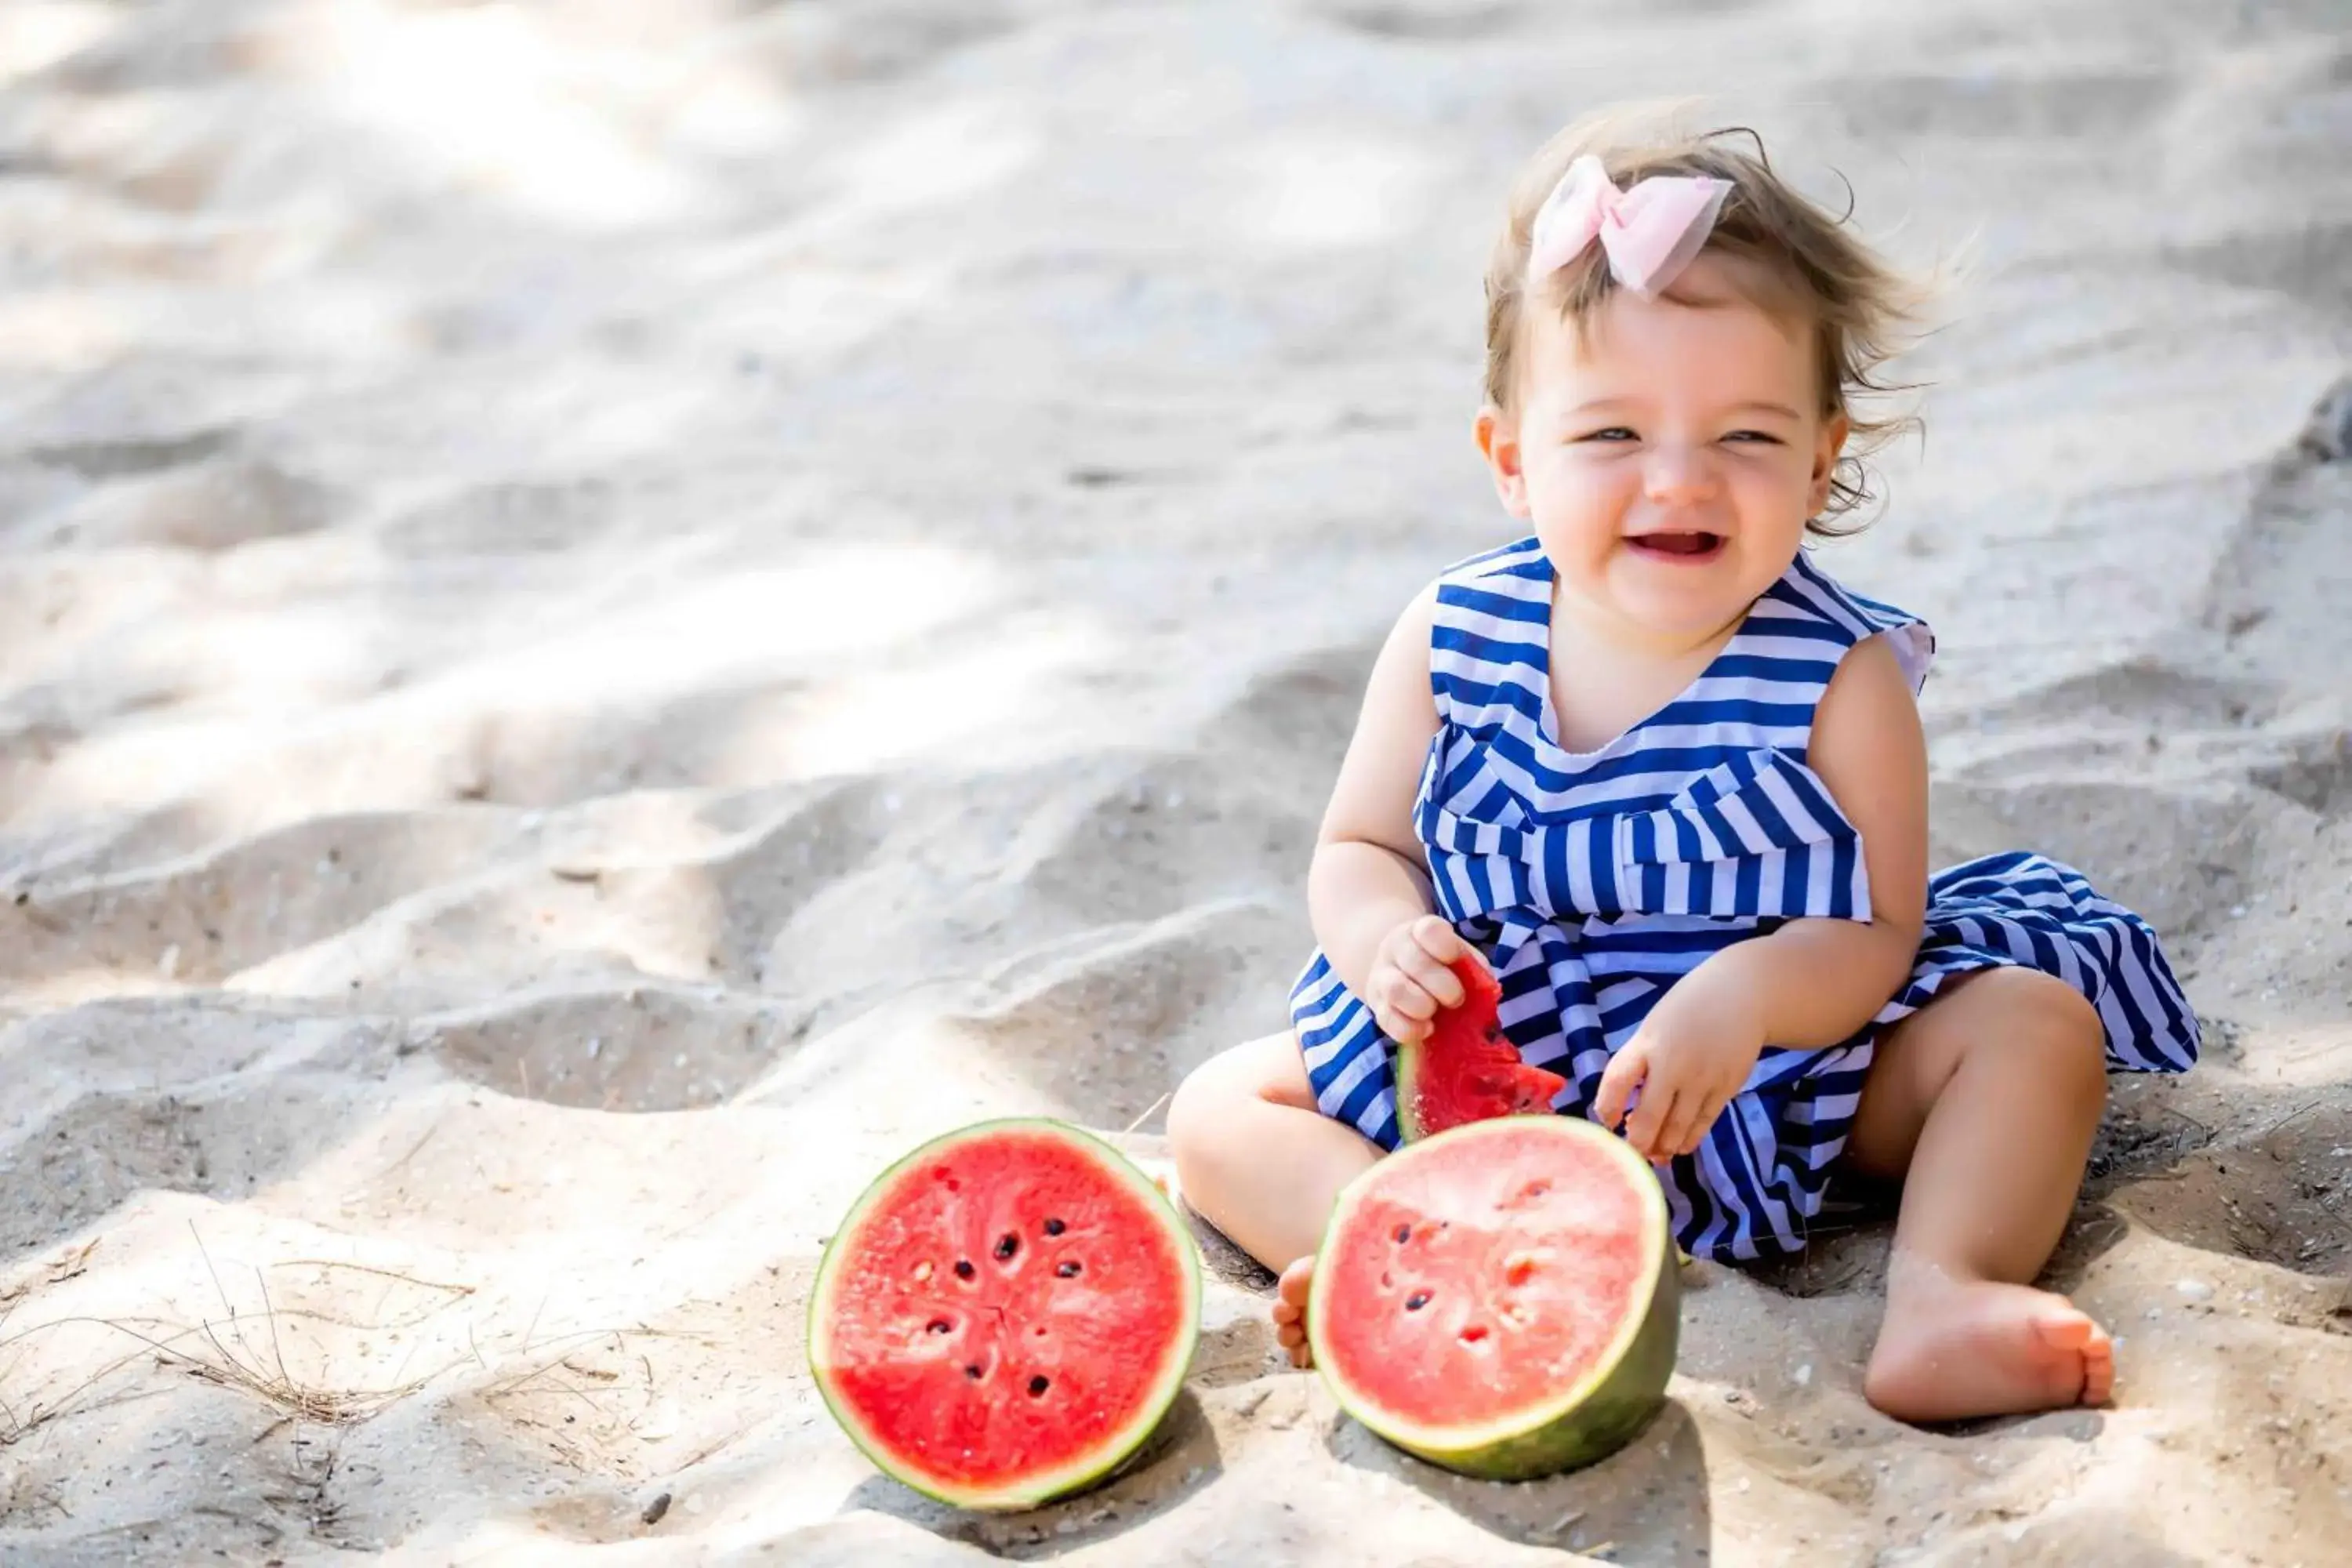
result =
[{"label": "pale sunlit sand surrounding the baby and the watermelon halves", "polygon": [[[821,1239],[1279,1027],[1371,651],[1508,538],[1503,181],[1651,92],[1966,263],[1830,567],[1943,635],[1940,856],[2206,1018],[2051,1269],[2114,1408],[1872,1413],[1863,1227],[1475,1486],[1223,1258],[1145,1472],[882,1481]],[[0,1559],[2343,1561],[2347,214],[2336,0],[9,0]]]}]

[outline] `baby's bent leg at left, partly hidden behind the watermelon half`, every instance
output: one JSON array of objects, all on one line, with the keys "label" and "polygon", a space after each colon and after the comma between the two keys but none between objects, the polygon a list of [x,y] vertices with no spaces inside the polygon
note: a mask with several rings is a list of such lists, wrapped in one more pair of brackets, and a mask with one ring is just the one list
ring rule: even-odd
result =
[{"label": "baby's bent leg at left, partly hidden behind the watermelon half", "polygon": [[1169,1150],[1183,1199],[1282,1274],[1275,1338],[1305,1366],[1315,1246],[1338,1190],[1381,1147],[1315,1110],[1298,1037],[1284,1030],[1214,1056],[1185,1077],[1169,1103]]}]

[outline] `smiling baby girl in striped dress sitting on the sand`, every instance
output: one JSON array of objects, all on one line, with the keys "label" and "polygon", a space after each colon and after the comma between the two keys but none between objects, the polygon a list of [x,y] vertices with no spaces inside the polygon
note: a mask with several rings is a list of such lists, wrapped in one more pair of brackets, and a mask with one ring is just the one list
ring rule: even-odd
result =
[{"label": "smiling baby girl in striped dress sitting on the sand", "polygon": [[1571,127],[1486,268],[1477,447],[1524,538],[1444,569],[1371,668],[1308,872],[1291,1027],[1169,1110],[1185,1199],[1301,1309],[1324,1215],[1397,1145],[1390,1063],[1503,1032],[1621,1128],[1698,1258],[1799,1251],[1900,1180],[1863,1378],[1903,1420],[2100,1403],[2107,1333],[2032,1288],[2110,1070],[2183,1072],[2154,933],[2030,853],[1929,875],[1933,637],[1809,534],[1863,498],[1903,280],[1726,136]]}]

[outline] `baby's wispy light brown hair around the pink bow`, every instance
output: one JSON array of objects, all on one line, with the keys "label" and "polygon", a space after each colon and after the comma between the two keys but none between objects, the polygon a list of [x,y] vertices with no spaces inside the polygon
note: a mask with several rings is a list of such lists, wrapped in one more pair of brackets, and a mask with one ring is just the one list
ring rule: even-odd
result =
[{"label": "baby's wispy light brown hair around the pink bow", "polygon": [[[1740,139],[1750,146],[1740,146]],[[1733,268],[1733,287],[1752,292],[1755,303],[1773,315],[1811,324],[1820,416],[1844,414],[1851,425],[1830,480],[1830,498],[1823,515],[1806,522],[1806,531],[1837,536],[1865,527],[1867,520],[1830,520],[1870,501],[1863,458],[1919,423],[1912,414],[1882,414],[1879,400],[1910,390],[1886,381],[1882,371],[1905,329],[1922,320],[1926,289],[1856,237],[1849,228],[1851,212],[1832,216],[1792,190],[1773,172],[1764,139],[1745,127],[1661,134],[1637,125],[1625,110],[1613,110],[1578,120],[1543,143],[1510,188],[1510,219],[1486,263],[1486,402],[1498,409],[1517,404],[1519,343],[1531,306],[1557,310],[1583,336],[1618,289],[1597,244],[1538,280],[1534,296],[1526,282],[1536,212],[1585,153],[1602,160],[1621,190],[1653,174],[1731,183],[1700,254],[1743,261],[1745,266]]]}]

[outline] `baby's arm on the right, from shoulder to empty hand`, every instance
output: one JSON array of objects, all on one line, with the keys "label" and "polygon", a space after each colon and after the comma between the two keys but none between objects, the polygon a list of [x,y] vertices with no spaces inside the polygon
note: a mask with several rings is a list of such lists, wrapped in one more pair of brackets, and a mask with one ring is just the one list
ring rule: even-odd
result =
[{"label": "baby's arm on the right, from shoulder to empty hand", "polygon": [[1689,1154],[1773,1046],[1851,1039],[1903,987],[1926,917],[1926,736],[1882,637],[1856,646],[1813,712],[1809,762],[1863,835],[1870,922],[1795,919],[1684,976],[1602,1074],[1595,1110],[1649,1159]]}]

